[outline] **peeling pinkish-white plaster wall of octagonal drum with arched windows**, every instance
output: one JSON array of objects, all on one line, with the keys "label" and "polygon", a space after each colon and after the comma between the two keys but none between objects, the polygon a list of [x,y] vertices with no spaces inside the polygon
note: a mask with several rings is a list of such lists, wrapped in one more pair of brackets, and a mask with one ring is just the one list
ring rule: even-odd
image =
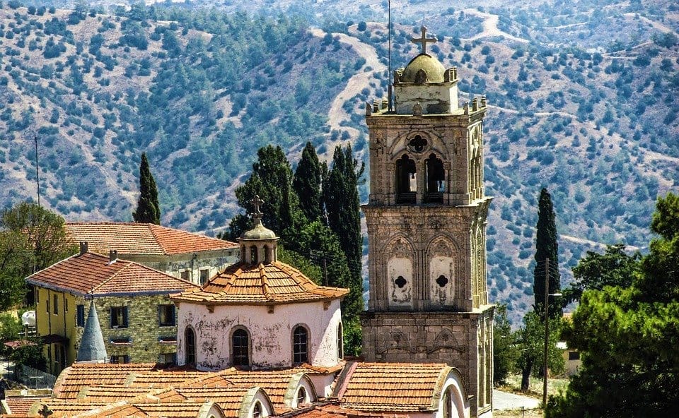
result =
[{"label": "peeling pinkish-white plaster wall of octagonal drum with arched windows", "polygon": [[191,326],[196,334],[196,362],[199,369],[221,370],[231,366],[231,334],[246,328],[250,334],[250,364],[253,369],[292,366],[292,330],[306,326],[309,362],[314,366],[335,366],[337,327],[341,320],[340,301],[268,306],[207,306],[178,304],[177,357],[185,364],[184,333]]}]

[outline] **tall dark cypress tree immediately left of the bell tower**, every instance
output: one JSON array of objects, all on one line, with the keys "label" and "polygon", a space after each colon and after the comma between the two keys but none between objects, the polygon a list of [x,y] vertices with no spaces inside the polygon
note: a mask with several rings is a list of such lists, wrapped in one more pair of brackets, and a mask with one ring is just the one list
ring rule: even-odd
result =
[{"label": "tall dark cypress tree immediately left of the bell tower", "polygon": [[361,208],[359,205],[358,179],[364,171],[354,160],[351,145],[342,149],[335,148],[332,169],[323,182],[323,198],[327,212],[327,223],[340,238],[342,251],[347,255],[349,270],[352,272],[350,284],[356,312],[363,310],[363,277],[361,275],[363,256],[363,237],[361,237]]}]

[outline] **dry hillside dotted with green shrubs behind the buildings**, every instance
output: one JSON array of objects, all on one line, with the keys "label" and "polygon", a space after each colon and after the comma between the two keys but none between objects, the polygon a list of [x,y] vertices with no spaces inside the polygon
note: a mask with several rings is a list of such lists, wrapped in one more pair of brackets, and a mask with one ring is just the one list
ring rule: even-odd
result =
[{"label": "dry hillside dotted with green shrubs behind the buildings", "polygon": [[[4,205],[35,196],[35,133],[42,198],[68,219],[129,219],[146,151],[163,223],[209,234],[238,209],[233,190],[265,143],[295,160],[308,140],[327,156],[352,141],[366,160],[364,103],[388,85],[381,4],[277,1],[273,17],[253,17],[194,3],[124,16],[0,9]],[[487,95],[489,288],[515,320],[533,301],[540,187],[564,281],[587,250],[643,250],[656,196],[679,187],[673,2],[521,3],[393,1],[394,68],[416,54],[427,11],[461,101]]]}]

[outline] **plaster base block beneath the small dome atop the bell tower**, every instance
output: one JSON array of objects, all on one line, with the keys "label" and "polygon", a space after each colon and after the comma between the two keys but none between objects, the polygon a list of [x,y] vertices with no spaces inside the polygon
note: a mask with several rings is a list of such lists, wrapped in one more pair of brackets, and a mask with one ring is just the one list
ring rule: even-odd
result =
[{"label": "plaster base block beneath the small dome atop the bell tower", "polygon": [[[396,113],[412,114],[415,103],[422,105],[422,111],[427,114],[428,104],[445,104],[445,113],[453,113],[458,109],[458,88],[448,83],[441,85],[397,85]],[[431,112],[430,112],[431,113]]]}]

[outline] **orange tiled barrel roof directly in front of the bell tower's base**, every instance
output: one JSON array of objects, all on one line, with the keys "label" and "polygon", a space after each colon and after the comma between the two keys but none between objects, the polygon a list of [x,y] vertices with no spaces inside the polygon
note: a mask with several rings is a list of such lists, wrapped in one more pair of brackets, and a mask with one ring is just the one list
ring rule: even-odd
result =
[{"label": "orange tiled barrel roof directly in front of the bell tower's base", "polygon": [[341,395],[342,406],[360,411],[417,412],[434,409],[446,364],[356,363]]}]

